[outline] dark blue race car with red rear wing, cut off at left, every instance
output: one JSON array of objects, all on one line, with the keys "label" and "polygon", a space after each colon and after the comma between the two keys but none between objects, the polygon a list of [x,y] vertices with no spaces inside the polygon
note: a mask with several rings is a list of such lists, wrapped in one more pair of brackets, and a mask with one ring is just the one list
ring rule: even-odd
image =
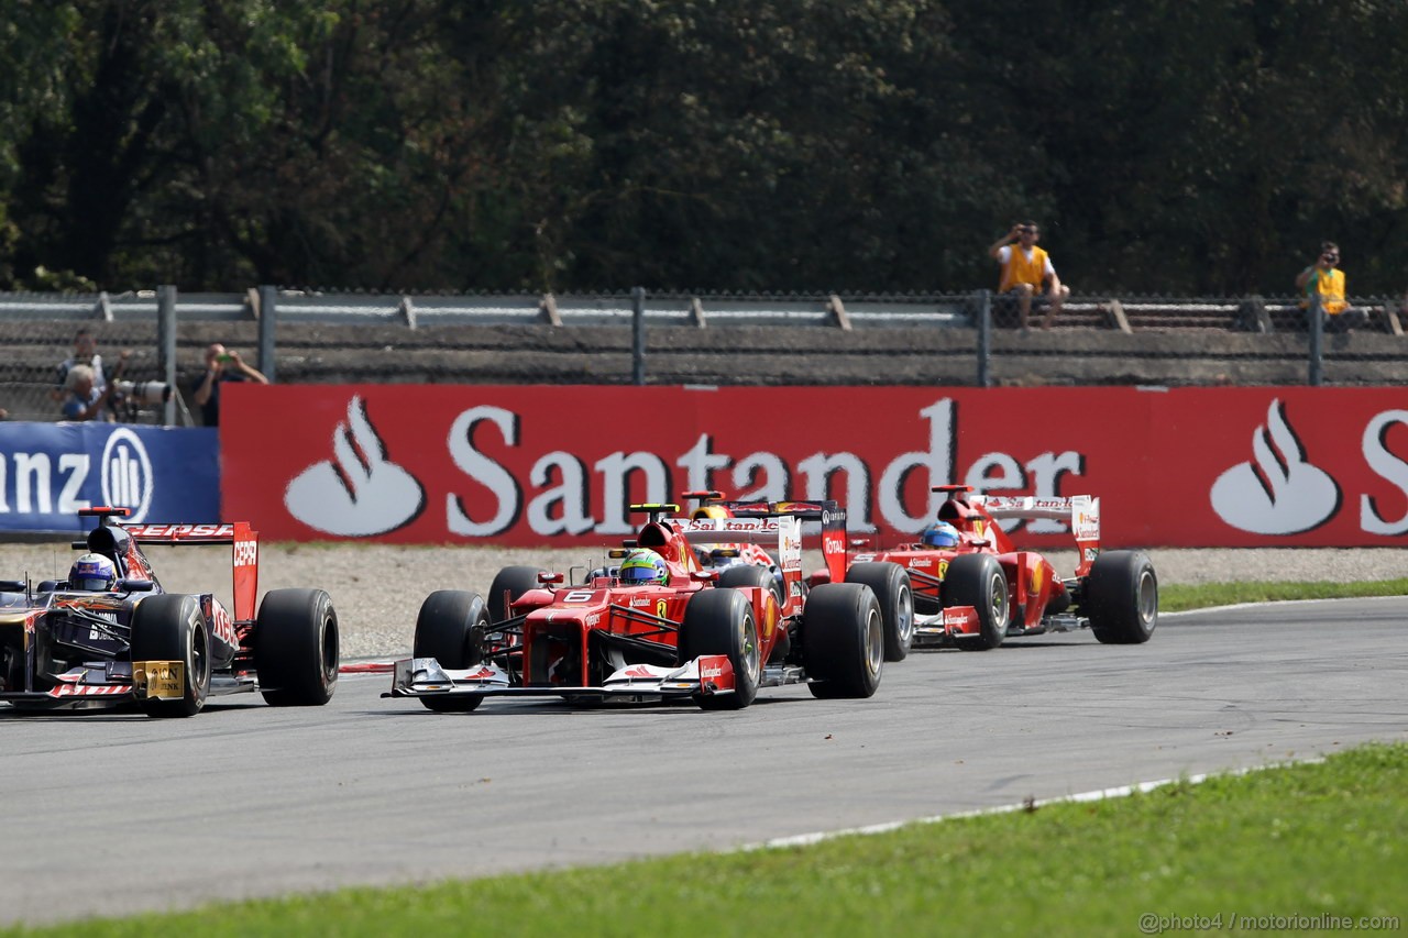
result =
[{"label": "dark blue race car with red rear wing, cut off at left", "polygon": [[[338,617],[322,590],[270,590],[255,613],[259,539],[232,524],[97,527],[66,580],[0,583],[0,700],[18,710],[135,701],[189,717],[210,697],[259,690],[275,706],[325,704],[338,679]],[[213,593],[168,593],[141,545],[231,545],[232,613]]]}]

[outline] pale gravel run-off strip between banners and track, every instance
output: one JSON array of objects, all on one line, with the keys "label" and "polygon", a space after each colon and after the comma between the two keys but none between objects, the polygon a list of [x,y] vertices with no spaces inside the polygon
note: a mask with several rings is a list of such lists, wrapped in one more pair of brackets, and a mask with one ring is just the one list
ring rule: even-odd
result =
[{"label": "pale gravel run-off strip between banners and track", "polygon": [[[332,596],[342,630],[342,658],[408,655],[415,613],[434,590],[487,592],[504,566],[529,563],[582,575],[603,563],[601,548],[397,546],[380,544],[262,544],[260,593],[313,586]],[[145,548],[169,592],[214,592],[228,604],[230,548]],[[1398,548],[1242,548],[1150,549],[1160,583],[1236,580],[1390,580],[1408,576],[1408,551]],[[0,544],[0,577],[62,579],[76,556],[66,541]],[[1062,576],[1076,565],[1074,551],[1050,551]],[[821,568],[808,552],[805,569]]]}]

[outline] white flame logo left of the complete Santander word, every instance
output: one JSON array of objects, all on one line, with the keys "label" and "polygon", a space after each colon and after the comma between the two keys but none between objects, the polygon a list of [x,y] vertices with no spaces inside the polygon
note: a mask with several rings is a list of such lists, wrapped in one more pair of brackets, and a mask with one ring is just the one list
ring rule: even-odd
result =
[{"label": "white flame logo left of the complete Santander word", "polygon": [[339,537],[387,534],[425,508],[425,489],[387,462],[360,397],[352,397],[346,423],[332,434],[332,455],[298,473],[283,493],[289,514],[308,527]]}]

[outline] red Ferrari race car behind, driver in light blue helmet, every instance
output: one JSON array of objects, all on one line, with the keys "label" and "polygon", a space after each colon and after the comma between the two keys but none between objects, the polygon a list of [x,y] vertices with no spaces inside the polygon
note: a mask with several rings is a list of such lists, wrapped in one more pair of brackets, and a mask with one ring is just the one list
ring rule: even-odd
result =
[{"label": "red Ferrari race car behind, driver in light blue helmet", "polygon": [[[1115,645],[1153,635],[1153,563],[1142,551],[1101,552],[1100,499],[977,496],[969,494],[972,486],[934,492],[948,499],[918,544],[856,554],[846,570],[846,582],[869,584],[886,614],[897,617],[886,624],[887,634],[898,637],[904,651],[911,642],[988,649],[1014,635],[1074,628],[1090,628],[1098,641]],[[1080,552],[1070,579],[1059,577],[1041,554],[1017,549],[1000,524],[1036,518],[1070,524]],[[897,579],[894,566],[907,576]]]}]

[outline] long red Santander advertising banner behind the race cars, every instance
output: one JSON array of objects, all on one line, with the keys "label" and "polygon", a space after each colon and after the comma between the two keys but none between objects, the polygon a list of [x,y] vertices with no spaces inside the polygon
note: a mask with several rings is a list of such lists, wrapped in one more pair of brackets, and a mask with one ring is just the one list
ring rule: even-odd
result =
[{"label": "long red Santander advertising banner behind the race cars", "polygon": [[[1408,389],[228,386],[227,518],[270,539],[615,542],[632,503],[836,499],[921,530],[931,486],[1101,500],[1104,546],[1408,544]],[[1070,546],[1026,521],[1018,544]]]}]

